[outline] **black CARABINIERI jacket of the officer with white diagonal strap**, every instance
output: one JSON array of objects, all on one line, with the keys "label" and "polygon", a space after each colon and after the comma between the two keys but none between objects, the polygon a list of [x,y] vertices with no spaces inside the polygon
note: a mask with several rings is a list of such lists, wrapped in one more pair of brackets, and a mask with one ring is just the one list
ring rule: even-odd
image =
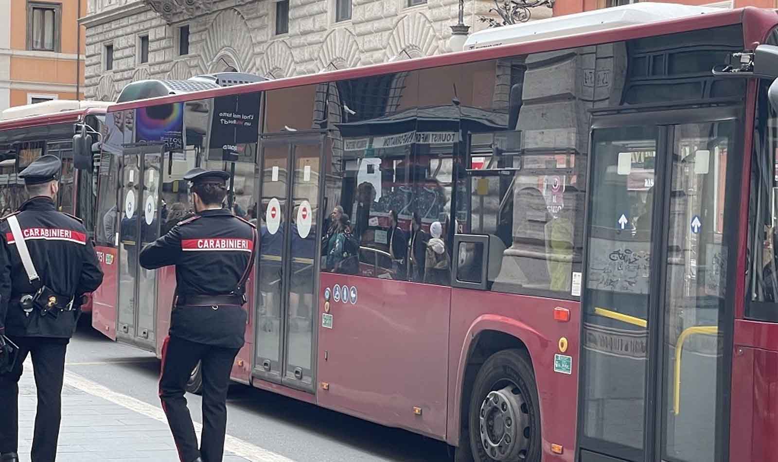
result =
[{"label": "black CARABINIERI jacket of the officer with white diagonal strap", "polygon": [[[51,198],[26,201],[16,212],[30,257],[40,281],[62,296],[79,297],[100,287],[103,271],[86,228],[79,219],[57,212]],[[75,331],[77,310],[40,316],[33,310],[26,316],[19,297],[35,292],[16,249],[11,228],[0,222],[0,327],[5,334],[19,337],[69,338]]]}]

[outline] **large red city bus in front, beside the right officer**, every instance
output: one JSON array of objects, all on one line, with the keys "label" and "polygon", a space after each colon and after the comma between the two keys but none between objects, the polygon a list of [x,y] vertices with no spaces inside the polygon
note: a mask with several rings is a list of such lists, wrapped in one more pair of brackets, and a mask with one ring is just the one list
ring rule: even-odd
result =
[{"label": "large red city bus in front, beside the right officer", "polygon": [[772,45],[772,10],[639,3],[117,103],[93,325],[159,353],[138,247],[223,168],[261,231],[234,380],[457,460],[778,461]]}]

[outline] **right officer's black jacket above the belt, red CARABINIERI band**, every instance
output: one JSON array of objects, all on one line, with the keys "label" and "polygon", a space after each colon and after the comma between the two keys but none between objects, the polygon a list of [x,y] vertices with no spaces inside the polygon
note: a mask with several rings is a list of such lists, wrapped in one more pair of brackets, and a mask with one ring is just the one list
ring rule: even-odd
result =
[{"label": "right officer's black jacket above the belt, red CARABINIERI band", "polygon": [[146,245],[140,264],[146,269],[176,265],[178,296],[229,294],[249,264],[253,227],[229,210],[205,210]]}]

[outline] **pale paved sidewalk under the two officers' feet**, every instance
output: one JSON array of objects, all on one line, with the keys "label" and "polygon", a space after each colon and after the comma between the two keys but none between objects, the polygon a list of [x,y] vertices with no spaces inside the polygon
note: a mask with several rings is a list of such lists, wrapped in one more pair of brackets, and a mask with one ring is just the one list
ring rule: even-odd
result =
[{"label": "pale paved sidewalk under the two officers' feet", "polygon": [[[25,363],[19,383],[19,458],[30,460],[37,405],[32,363]],[[201,425],[195,424],[199,433]],[[232,439],[232,441],[230,441]],[[237,443],[228,437],[227,445]],[[247,443],[243,443],[245,446]],[[238,444],[240,446],[240,443]],[[251,445],[248,445],[251,446]],[[287,462],[288,458],[261,448],[238,447],[251,452],[241,457],[226,452],[224,462]],[[151,404],[118,394],[75,373],[65,373],[62,390],[62,425],[58,462],[179,462],[163,411]]]}]

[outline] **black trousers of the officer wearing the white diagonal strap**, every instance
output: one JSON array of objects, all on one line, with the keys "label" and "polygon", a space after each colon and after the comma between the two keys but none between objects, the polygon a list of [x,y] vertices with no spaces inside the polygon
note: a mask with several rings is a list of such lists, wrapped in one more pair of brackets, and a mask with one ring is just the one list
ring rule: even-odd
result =
[{"label": "black trousers of the officer wearing the white diagonal strap", "polygon": [[19,357],[10,373],[0,374],[0,453],[19,452],[19,379],[22,377],[22,363],[31,354],[38,391],[31,459],[32,462],[54,462],[59,439],[67,340],[12,337],[11,341],[19,346]]}]

